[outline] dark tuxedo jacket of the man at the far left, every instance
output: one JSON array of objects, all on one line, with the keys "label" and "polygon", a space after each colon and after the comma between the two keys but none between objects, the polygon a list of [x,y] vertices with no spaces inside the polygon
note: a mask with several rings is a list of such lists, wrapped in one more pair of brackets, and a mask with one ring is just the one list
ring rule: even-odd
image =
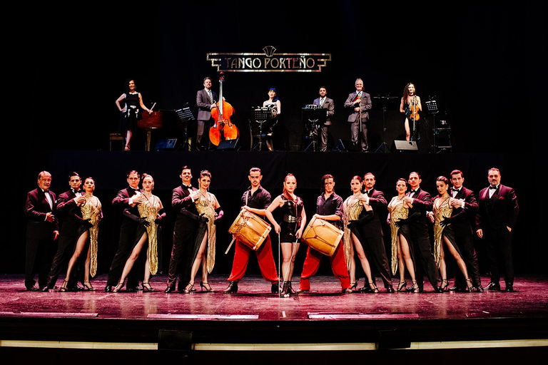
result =
[{"label": "dark tuxedo jacket of the man at the far left", "polygon": [[56,215],[56,200],[57,196],[50,191],[51,200],[54,203],[53,209],[49,206],[46,194],[37,187],[31,190],[26,195],[25,216],[26,222],[26,237],[39,240],[53,239],[54,231],[59,230],[57,219],[54,222],[46,222],[46,214],[51,212]]}]

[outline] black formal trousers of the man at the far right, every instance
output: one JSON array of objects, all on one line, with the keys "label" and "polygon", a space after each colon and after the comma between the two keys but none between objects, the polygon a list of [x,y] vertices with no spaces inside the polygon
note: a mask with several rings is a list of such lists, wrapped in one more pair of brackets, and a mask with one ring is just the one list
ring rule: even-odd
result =
[{"label": "black formal trousers of the man at the far right", "polygon": [[514,264],[512,263],[512,233],[507,227],[499,229],[484,228],[483,239],[487,248],[487,257],[491,268],[491,282],[499,282],[500,269],[504,268],[506,282],[514,282]]}]

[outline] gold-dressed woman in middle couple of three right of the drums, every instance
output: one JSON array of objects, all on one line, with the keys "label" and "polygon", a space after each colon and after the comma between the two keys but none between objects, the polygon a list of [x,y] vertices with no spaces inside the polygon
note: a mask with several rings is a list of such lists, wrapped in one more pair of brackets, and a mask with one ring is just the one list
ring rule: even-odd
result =
[{"label": "gold-dressed woman in middle couple of three right of the drums", "polygon": [[415,278],[415,259],[413,259],[412,241],[408,225],[402,225],[400,221],[407,220],[409,208],[412,205],[403,201],[407,190],[407,181],[404,178],[397,180],[397,196],[392,197],[388,204],[388,224],[392,230],[392,275],[396,269],[400,272],[400,282],[397,284],[397,292],[404,292],[407,282],[405,281],[405,269],[411,277],[412,287],[410,292],[419,292],[417,279]]}]

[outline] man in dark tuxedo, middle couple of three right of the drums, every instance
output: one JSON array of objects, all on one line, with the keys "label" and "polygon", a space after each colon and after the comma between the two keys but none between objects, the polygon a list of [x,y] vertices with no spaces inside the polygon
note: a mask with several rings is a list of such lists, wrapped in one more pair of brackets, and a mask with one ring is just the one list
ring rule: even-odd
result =
[{"label": "man in dark tuxedo, middle couple of three right of the drums", "polygon": [[[430,233],[426,221],[426,212],[432,210],[432,197],[430,193],[420,188],[422,179],[418,173],[410,173],[408,183],[411,190],[407,191],[403,202],[408,206],[412,206],[409,210],[409,215],[412,218],[402,219],[399,224],[400,226],[409,225],[413,250],[415,250],[415,276],[417,277],[418,289],[419,292],[422,292],[423,278],[426,274],[435,292],[441,292],[437,284],[440,282],[440,273],[437,270],[437,264],[432,253]],[[418,214],[414,214],[415,212]],[[415,292],[416,288],[410,287],[407,289]]]}]

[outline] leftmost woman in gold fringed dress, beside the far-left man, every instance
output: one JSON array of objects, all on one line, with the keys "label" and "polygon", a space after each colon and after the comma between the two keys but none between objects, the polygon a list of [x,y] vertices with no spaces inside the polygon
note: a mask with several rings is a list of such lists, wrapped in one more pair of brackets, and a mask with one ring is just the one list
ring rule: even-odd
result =
[{"label": "leftmost woman in gold fringed dress, beside the far-left man", "polygon": [[101,202],[96,196],[93,196],[93,190],[95,190],[95,181],[93,178],[86,178],[83,182],[83,197],[86,199],[86,202],[78,207],[82,212],[83,224],[78,228],[76,248],[71,259],[68,261],[66,277],[59,288],[59,292],[67,291],[66,285],[71,277],[72,270],[82,252],[86,249],[86,260],[83,267],[83,289],[95,290],[91,286],[90,278],[97,274],[97,235],[99,221],[103,217],[103,212],[101,211]]}]

